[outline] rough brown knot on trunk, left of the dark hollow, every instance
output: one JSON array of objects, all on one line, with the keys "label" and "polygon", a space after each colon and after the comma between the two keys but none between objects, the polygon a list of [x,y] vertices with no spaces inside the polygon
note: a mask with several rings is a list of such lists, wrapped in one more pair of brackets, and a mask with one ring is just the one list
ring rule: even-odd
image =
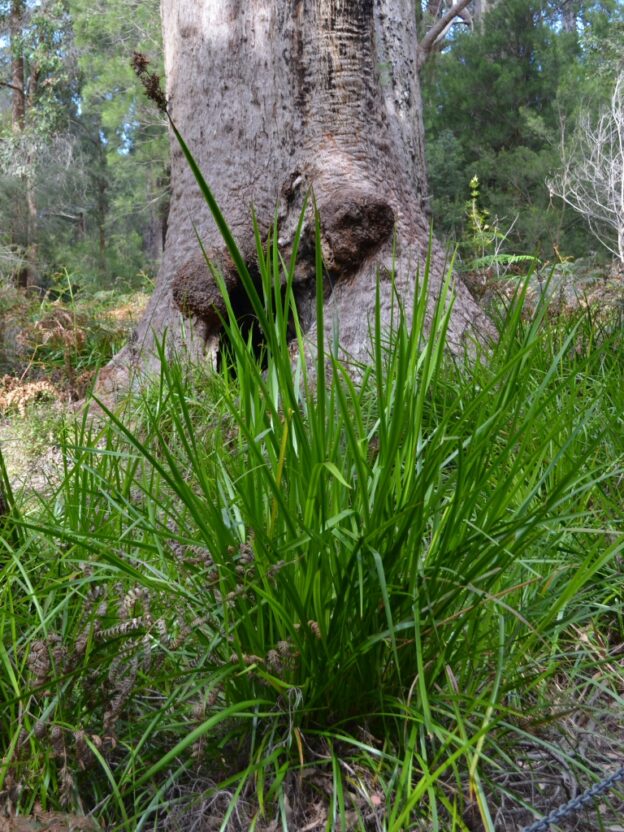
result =
[{"label": "rough brown knot on trunk, left of the dark hollow", "polygon": [[[238,274],[225,252],[207,252],[223,275],[228,292],[238,285]],[[172,283],[173,300],[186,317],[195,316],[210,329],[219,328],[219,315],[225,314],[225,303],[204,257],[200,254],[183,263]]]}]

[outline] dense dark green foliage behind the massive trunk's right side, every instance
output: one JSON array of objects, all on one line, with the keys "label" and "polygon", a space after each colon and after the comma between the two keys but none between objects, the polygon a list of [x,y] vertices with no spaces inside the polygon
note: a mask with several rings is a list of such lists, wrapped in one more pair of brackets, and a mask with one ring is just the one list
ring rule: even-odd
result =
[{"label": "dense dark green foliage behind the massive trunk's right side", "polygon": [[598,83],[588,71],[598,60],[591,44],[605,32],[618,43],[616,5],[585,4],[582,16],[582,34],[570,34],[538,0],[500,0],[482,32],[456,36],[426,68],[427,153],[438,229],[462,236],[465,188],[477,176],[492,222],[513,223],[510,250],[550,257],[553,247],[575,256],[591,248],[582,222],[553,206],[545,185],[559,163],[561,119],[573,120],[581,97]]}]

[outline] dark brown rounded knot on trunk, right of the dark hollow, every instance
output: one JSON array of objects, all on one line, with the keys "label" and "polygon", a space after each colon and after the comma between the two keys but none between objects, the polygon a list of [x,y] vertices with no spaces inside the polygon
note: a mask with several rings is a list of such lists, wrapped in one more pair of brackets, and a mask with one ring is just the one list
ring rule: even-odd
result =
[{"label": "dark brown rounded knot on trunk, right of the dark hollow", "polygon": [[373,194],[346,191],[319,210],[326,265],[340,276],[356,272],[394,230],[394,211]]}]

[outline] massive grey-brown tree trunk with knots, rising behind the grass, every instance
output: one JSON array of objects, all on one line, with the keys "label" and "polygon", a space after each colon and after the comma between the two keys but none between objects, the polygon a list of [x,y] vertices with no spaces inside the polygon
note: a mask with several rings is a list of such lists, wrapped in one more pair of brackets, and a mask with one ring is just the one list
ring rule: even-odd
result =
[{"label": "massive grey-brown tree trunk with knots, rising behind the grass", "polygon": [[[429,242],[414,0],[163,0],[162,15],[169,113],[241,251],[253,265],[252,208],[268,233],[277,206],[287,252],[312,190],[327,267],[327,326],[337,319],[343,349],[365,361],[377,275],[388,325],[392,290],[383,276],[393,247],[397,288],[409,308]],[[237,291],[223,241],[175,143],[171,173],[157,287],[104,382],[116,368],[144,367],[154,332],[167,329],[170,346],[193,357],[214,347],[222,307],[194,227]],[[311,333],[312,239],[310,219],[296,292]],[[436,243],[432,261],[435,295],[446,267]],[[468,291],[458,285],[457,293],[455,345],[475,326],[488,328]]]}]

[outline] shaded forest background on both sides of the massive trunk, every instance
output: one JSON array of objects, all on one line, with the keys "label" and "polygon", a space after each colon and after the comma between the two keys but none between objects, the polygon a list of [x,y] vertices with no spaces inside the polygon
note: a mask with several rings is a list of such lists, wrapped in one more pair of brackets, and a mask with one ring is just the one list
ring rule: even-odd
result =
[{"label": "shaded forest background on both sides of the massive trunk", "polygon": [[[444,11],[424,3],[423,30]],[[622,12],[616,0],[472,3],[423,68],[432,221],[465,264],[494,252],[606,255],[546,181],[562,135],[608,102]],[[133,76],[134,50],[159,71],[158,0],[0,2],[5,285],[62,290],[69,275],[74,288],[106,289],[155,274],[168,140]]]}]

